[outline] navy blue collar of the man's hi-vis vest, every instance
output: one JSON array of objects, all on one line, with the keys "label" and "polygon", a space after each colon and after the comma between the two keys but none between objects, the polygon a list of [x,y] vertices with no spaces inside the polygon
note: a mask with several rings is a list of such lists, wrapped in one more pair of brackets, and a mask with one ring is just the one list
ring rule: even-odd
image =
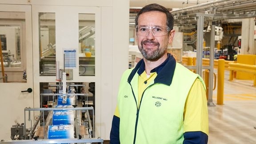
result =
[{"label": "navy blue collar of the man's hi-vis vest", "polygon": [[[157,76],[154,82],[171,85],[175,67],[176,67],[176,60],[172,56],[172,54],[168,53],[168,58],[158,67],[150,71],[150,72],[157,73]],[[128,77],[128,82],[130,83],[132,81],[132,78],[136,73],[138,75],[141,75],[144,71],[145,71],[145,63],[144,63],[144,60],[142,59],[136,64],[136,67],[130,73]]]}]

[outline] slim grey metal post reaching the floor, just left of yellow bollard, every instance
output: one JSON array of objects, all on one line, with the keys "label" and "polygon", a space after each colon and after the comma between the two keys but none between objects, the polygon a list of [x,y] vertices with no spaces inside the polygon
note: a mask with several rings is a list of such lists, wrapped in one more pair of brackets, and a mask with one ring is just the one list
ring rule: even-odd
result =
[{"label": "slim grey metal post reaching the floor, just left of yellow bollard", "polygon": [[214,48],[215,48],[215,23],[212,22],[211,41],[210,41],[210,69],[209,69],[209,84],[208,84],[208,106],[215,106],[212,102],[212,83],[213,83],[213,65],[214,65]]}]

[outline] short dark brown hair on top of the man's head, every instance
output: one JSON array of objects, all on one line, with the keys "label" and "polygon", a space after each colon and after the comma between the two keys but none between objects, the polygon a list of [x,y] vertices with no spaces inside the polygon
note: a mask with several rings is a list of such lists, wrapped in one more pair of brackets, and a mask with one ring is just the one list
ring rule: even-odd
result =
[{"label": "short dark brown hair on top of the man's head", "polygon": [[159,4],[148,4],[144,6],[143,8],[140,9],[140,12],[137,13],[135,17],[135,25],[138,25],[138,19],[139,16],[144,13],[144,12],[151,12],[151,11],[159,11],[159,12],[164,12],[166,15],[166,25],[172,30],[173,29],[173,16],[172,14],[168,11],[167,8],[159,5]]}]

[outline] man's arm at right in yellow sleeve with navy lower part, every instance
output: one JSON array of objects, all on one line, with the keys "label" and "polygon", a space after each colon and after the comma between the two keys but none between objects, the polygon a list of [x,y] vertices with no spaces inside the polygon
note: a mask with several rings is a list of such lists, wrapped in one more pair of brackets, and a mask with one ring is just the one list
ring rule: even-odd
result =
[{"label": "man's arm at right in yellow sleeve with navy lower part", "polygon": [[196,79],[184,109],[184,142],[183,144],[208,143],[208,107],[205,88]]}]

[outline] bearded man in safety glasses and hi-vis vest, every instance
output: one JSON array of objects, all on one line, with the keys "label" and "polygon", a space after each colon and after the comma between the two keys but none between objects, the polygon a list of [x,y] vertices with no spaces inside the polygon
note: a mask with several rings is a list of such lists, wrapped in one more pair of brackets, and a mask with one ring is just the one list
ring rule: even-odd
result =
[{"label": "bearded man in safety glasses and hi-vis vest", "polygon": [[110,144],[207,144],[204,82],[167,52],[174,36],[172,15],[149,4],[135,23],[143,59],[120,81]]}]

